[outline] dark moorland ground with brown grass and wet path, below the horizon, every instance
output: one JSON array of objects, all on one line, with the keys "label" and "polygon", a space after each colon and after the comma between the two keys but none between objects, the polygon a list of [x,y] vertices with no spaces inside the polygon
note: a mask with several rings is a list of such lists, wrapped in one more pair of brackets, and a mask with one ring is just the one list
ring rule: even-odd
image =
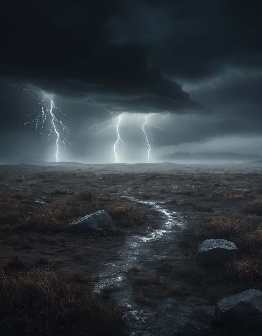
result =
[{"label": "dark moorland ground with brown grass and wet path, below the horizon", "polygon": [[[112,228],[67,232],[100,209]],[[213,314],[262,290],[261,214],[261,163],[0,166],[1,335],[260,335]],[[196,266],[208,238],[240,258]]]}]

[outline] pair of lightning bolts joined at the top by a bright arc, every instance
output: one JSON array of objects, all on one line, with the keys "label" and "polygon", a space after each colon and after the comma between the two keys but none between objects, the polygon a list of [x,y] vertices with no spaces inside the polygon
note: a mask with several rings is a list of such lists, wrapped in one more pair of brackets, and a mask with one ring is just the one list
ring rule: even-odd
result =
[{"label": "pair of lightning bolts joined at the top by a bright arc", "polygon": [[[161,131],[166,133],[166,131],[163,130],[162,128],[160,128],[158,126],[155,126],[155,125],[148,122],[148,117],[150,117],[150,116],[151,116],[151,114],[144,117],[144,116],[139,116],[138,114],[130,114],[129,115],[127,112],[124,112],[118,117],[113,117],[113,115],[111,113],[111,119],[108,119],[108,120],[106,120],[106,121],[104,121],[103,123],[100,123],[100,124],[90,125],[89,128],[95,130],[92,133],[92,134],[95,134],[95,137],[97,136],[98,133],[100,133],[102,131],[108,130],[110,128],[115,129],[117,140],[112,146],[112,155],[114,156],[115,163],[118,163],[119,162],[119,156],[117,154],[117,147],[118,147],[118,145],[122,145],[123,148],[124,148],[124,146],[126,144],[120,136],[120,125],[121,125],[121,123],[123,122],[123,120],[129,119],[129,118],[140,118],[140,119],[144,120],[144,122],[142,123],[142,125],[140,127],[140,130],[143,132],[143,134],[145,136],[145,139],[146,139],[146,143],[148,145],[147,156],[148,156],[148,160],[150,161],[150,159],[153,157],[153,151],[151,150],[151,144],[150,143],[151,143],[151,141],[153,143],[155,142],[155,136],[152,132],[150,132],[146,129],[146,125],[151,126],[153,128],[156,128],[156,129],[161,130]],[[108,123],[109,123],[108,126],[103,127],[103,125],[107,125]],[[99,129],[100,127],[102,127],[102,128]]]}]

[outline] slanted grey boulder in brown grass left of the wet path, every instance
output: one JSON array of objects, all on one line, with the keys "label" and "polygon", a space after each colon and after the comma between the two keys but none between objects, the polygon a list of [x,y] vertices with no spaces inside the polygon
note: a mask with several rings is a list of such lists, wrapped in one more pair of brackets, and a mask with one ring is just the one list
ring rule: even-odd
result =
[{"label": "slanted grey boulder in brown grass left of the wet path", "polygon": [[68,226],[69,232],[84,231],[92,232],[99,229],[106,229],[113,225],[112,217],[104,210],[86,215]]}]

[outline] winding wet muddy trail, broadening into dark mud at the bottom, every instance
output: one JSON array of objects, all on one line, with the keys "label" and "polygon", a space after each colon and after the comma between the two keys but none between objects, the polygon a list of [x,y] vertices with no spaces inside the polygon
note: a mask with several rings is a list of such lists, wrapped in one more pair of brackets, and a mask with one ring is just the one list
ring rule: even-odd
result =
[{"label": "winding wet muddy trail, broadening into dark mud at the bottom", "polygon": [[[102,288],[111,288],[110,298],[123,307],[130,318],[129,328],[123,335],[210,335],[210,321],[205,318],[195,319],[196,312],[204,309],[212,314],[214,307],[195,296],[161,297],[157,305],[146,305],[134,301],[137,288],[131,267],[146,270],[146,275],[161,275],[156,265],[169,253],[176,251],[181,231],[187,218],[179,212],[169,211],[167,200],[139,200],[128,196],[128,190],[120,197],[139,205],[147,216],[143,234],[127,234],[124,244],[117,253],[120,260],[103,264],[98,272],[99,281],[94,287],[94,294]],[[140,274],[136,274],[140,276]],[[122,334],[121,334],[122,335]]]}]

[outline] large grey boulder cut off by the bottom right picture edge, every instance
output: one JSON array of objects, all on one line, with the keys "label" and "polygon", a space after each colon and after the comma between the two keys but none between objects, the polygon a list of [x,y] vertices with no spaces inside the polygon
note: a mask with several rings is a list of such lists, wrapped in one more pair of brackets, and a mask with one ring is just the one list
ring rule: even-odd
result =
[{"label": "large grey boulder cut off by the bottom right picture edge", "polygon": [[233,328],[252,328],[262,323],[262,291],[250,289],[220,300],[215,323]]}]

